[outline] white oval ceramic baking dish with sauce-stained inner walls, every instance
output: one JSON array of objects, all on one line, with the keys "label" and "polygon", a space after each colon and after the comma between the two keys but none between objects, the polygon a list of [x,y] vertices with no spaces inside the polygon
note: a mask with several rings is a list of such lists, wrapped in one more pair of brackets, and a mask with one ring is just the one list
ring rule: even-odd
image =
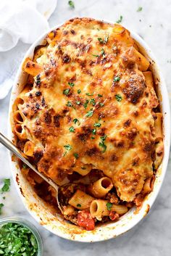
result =
[{"label": "white oval ceramic baking dish with sauce-stained inner walls", "polygon": [[[104,20],[103,20],[104,21]],[[104,21],[109,22],[109,21]],[[113,22],[109,22],[114,24]],[[60,25],[55,26],[53,29],[59,28]],[[49,33],[49,30],[47,33]],[[46,37],[46,34],[43,34],[38,40],[30,46],[25,57],[33,57],[33,51],[36,46],[40,45],[43,41],[43,38]],[[93,241],[103,241],[107,239],[111,239],[113,237],[119,236],[120,234],[125,233],[126,231],[133,228],[146,214],[149,212],[149,209],[154,203],[154,200],[157,198],[157,194],[162,186],[162,182],[164,180],[164,176],[167,170],[167,162],[169,159],[170,153],[170,104],[167,94],[167,88],[164,83],[164,79],[162,77],[162,73],[160,72],[156,59],[149,49],[149,46],[143,41],[143,39],[138,36],[136,33],[131,32],[131,36],[137,41],[138,45],[141,47],[141,51],[146,57],[151,59],[151,68],[154,72],[154,78],[159,85],[159,98],[160,104],[163,112],[163,131],[164,131],[164,157],[162,160],[162,164],[157,170],[156,181],[154,183],[154,190],[149,194],[143,202],[143,207],[141,210],[136,211],[135,208],[131,209],[128,213],[123,215],[120,220],[115,223],[106,223],[101,226],[96,226],[93,231],[85,231],[78,226],[74,226],[67,221],[63,220],[59,215],[52,215],[46,203],[40,199],[37,194],[33,191],[32,187],[25,180],[20,172],[20,168],[18,167],[17,161],[12,160],[12,155],[10,154],[10,162],[11,162],[11,170],[12,176],[14,178],[14,182],[17,185],[17,191],[20,194],[22,202],[27,208],[28,212],[35,218],[38,223],[44,226],[46,229],[51,231],[52,233],[61,236],[65,239],[70,239],[74,241],[85,241],[85,242],[93,242]],[[24,61],[23,59],[23,61]],[[10,120],[10,113],[12,111],[12,104],[14,103],[14,99],[22,90],[22,85],[24,84],[26,79],[25,73],[22,72],[22,64],[17,72],[16,79],[14,80],[14,85],[12,88],[12,95],[9,106],[9,139],[13,139],[12,134],[12,126]]]}]

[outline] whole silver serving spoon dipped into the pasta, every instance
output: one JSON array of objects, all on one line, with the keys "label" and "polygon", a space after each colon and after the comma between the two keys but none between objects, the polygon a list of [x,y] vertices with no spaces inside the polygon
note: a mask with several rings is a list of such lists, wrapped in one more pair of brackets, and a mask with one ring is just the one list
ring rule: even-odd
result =
[{"label": "whole silver serving spoon dipped into the pasta", "polygon": [[0,143],[3,144],[7,149],[9,149],[18,158],[20,158],[20,160],[22,160],[22,162],[24,162],[25,165],[28,165],[28,167],[31,170],[33,170],[35,173],[37,173],[38,176],[43,178],[44,181],[49,183],[49,185],[51,185],[57,191],[57,205],[59,207],[59,210],[63,213],[62,206],[60,205],[60,202],[59,202],[60,192],[63,189],[67,189],[69,186],[75,186],[76,184],[75,183],[67,183],[62,186],[58,186],[57,183],[55,183],[51,178],[46,176],[46,174],[40,173],[36,168],[34,168],[34,166],[32,164],[30,164],[30,162],[28,162],[28,160],[25,158],[26,157],[25,154],[23,152],[21,152],[20,149],[17,149],[17,146],[14,146],[12,141],[9,141],[9,139],[7,139],[7,137],[5,137],[2,133],[0,133]]}]

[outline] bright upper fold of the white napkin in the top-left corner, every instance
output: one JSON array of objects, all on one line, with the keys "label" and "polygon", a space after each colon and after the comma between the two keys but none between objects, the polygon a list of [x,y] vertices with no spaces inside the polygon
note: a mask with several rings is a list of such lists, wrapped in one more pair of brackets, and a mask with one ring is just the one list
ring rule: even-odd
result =
[{"label": "bright upper fold of the white napkin in the top-left corner", "polygon": [[56,5],[57,0],[1,0],[0,51],[12,49],[19,39],[32,44],[49,28]]}]

